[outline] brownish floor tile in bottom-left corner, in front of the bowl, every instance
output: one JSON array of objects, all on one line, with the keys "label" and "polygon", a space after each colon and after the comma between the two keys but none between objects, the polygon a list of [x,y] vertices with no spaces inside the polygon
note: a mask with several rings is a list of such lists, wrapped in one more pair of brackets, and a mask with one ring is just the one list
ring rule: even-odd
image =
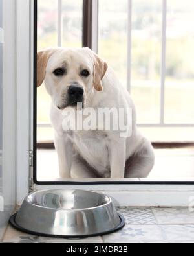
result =
[{"label": "brownish floor tile in bottom-left corner, in front of the bowl", "polygon": [[11,226],[8,226],[5,232],[5,236],[3,238],[3,242],[8,243],[37,243],[38,237],[34,235],[28,235],[26,233],[22,233],[17,231]]}]

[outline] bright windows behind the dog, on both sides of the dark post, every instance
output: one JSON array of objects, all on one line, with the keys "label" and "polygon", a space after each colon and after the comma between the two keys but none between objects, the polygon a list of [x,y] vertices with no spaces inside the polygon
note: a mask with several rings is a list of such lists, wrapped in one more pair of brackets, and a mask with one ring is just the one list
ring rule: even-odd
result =
[{"label": "bright windows behind the dog, on both sides of the dark post", "polygon": [[[131,92],[140,129],[152,141],[194,141],[194,3],[93,0],[98,54]],[[81,47],[83,1],[38,1],[38,49]],[[184,24],[184,26],[182,25]],[[182,29],[180,29],[180,27]],[[38,89],[38,141],[52,141],[50,99]]]}]

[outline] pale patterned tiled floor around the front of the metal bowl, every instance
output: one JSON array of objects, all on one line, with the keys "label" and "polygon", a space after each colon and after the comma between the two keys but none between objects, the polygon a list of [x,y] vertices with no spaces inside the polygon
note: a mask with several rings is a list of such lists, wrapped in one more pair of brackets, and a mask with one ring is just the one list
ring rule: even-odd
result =
[{"label": "pale patterned tiled floor around the front of the metal bowl", "polygon": [[124,229],[111,235],[88,239],[36,237],[8,226],[3,242],[8,243],[194,243],[194,212],[175,208],[118,207],[124,215]]}]

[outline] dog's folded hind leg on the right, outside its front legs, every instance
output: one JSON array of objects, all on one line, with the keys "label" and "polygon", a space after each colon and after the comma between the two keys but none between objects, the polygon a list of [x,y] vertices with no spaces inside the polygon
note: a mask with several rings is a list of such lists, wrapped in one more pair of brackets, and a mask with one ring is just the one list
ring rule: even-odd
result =
[{"label": "dog's folded hind leg on the right, outside its front legs", "polygon": [[153,146],[147,139],[144,139],[140,148],[126,161],[125,178],[146,178],[154,163]]}]

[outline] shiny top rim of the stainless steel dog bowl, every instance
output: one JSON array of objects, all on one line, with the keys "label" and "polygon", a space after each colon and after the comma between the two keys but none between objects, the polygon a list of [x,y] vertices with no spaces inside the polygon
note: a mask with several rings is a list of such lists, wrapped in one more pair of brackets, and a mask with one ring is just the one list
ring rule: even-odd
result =
[{"label": "shiny top rim of the stainless steel dog bowl", "polygon": [[[98,205],[98,206],[94,206],[94,207],[87,207],[87,208],[79,208],[79,209],[63,209],[63,208],[52,208],[52,207],[45,207],[43,205],[37,205],[37,204],[33,204],[32,202],[28,201],[28,198],[33,195],[33,194],[38,194],[41,192],[48,192],[48,191],[84,191],[84,192],[91,192],[93,194],[98,194],[98,195],[102,195],[105,198],[107,198],[107,202],[105,204],[102,205]],[[27,202],[27,204],[33,205],[34,207],[38,207],[41,209],[49,209],[49,210],[54,210],[54,211],[87,211],[87,210],[92,210],[92,209],[98,209],[100,207],[105,207],[109,204],[112,204],[113,201],[111,199],[110,196],[107,196],[106,194],[103,194],[101,192],[94,192],[94,191],[90,191],[90,190],[83,190],[83,189],[44,189],[41,191],[36,191],[36,192],[31,192],[30,194],[28,194],[28,196],[25,198],[24,202]],[[23,204],[22,204],[23,205]]]}]

